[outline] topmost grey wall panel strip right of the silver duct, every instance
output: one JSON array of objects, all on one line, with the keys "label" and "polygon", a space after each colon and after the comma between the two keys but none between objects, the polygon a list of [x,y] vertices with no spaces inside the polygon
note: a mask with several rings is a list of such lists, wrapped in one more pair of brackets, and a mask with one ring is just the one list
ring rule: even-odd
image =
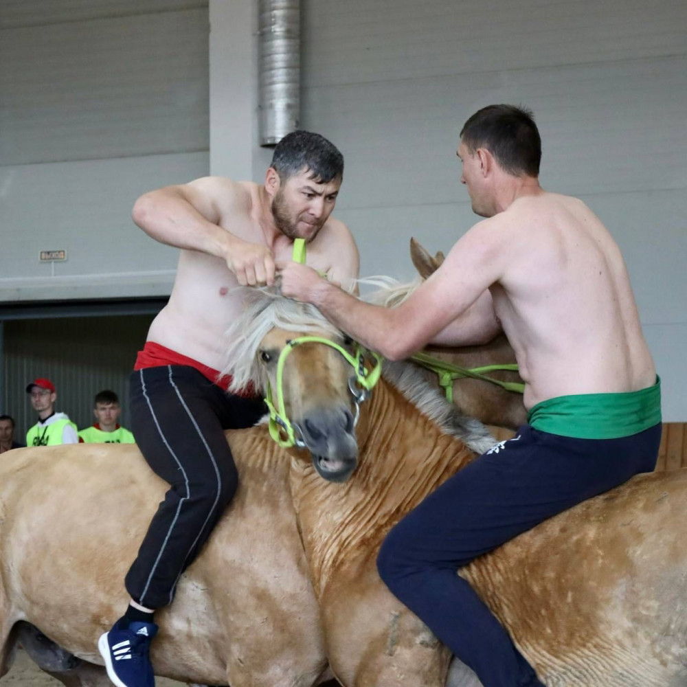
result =
[{"label": "topmost grey wall panel strip right of the silver duct", "polygon": [[684,54],[684,0],[306,0],[306,87]]}]

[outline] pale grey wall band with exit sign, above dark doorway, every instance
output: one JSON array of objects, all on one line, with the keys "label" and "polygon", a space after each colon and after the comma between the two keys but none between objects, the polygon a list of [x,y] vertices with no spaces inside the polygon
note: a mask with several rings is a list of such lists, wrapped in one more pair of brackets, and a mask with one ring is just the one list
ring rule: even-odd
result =
[{"label": "pale grey wall band with exit sign, above dark doorway", "polygon": [[[176,269],[179,251],[146,236],[131,220],[131,208],[148,190],[202,177],[207,165],[207,153],[180,153],[0,169],[0,188],[4,180],[8,190],[2,209],[8,231],[3,231],[0,252],[0,300],[23,299],[16,292],[19,286],[29,297],[45,297],[31,293],[32,280],[53,273],[57,278],[80,276],[75,286],[82,289],[60,293],[63,286],[57,280],[53,298],[124,296],[98,293],[98,275],[128,273],[135,282],[155,271]],[[38,262],[38,251],[62,248],[68,251],[67,262]]]}]

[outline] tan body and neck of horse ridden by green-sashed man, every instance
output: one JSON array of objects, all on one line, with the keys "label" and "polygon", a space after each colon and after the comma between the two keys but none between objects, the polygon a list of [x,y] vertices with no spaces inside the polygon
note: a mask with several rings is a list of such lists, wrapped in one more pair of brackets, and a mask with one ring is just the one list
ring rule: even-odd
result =
[{"label": "tan body and neck of horse ridden by green-sashed man", "polygon": [[[358,431],[366,450],[346,484],[328,485],[306,468],[292,473],[326,651],[344,684],[368,684],[361,675],[375,676],[369,684],[442,684],[447,671],[449,656],[390,598],[375,556],[390,526],[475,453],[407,406],[386,385],[376,390],[374,421],[365,418]],[[460,574],[546,684],[684,684],[687,542],[679,523],[685,504],[687,471],[639,475]]]}]

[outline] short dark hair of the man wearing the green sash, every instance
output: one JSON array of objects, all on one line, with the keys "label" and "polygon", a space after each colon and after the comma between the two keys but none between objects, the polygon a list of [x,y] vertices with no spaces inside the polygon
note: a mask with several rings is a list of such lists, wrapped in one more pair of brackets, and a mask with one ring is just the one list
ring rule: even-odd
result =
[{"label": "short dark hair of the man wearing the green sash", "polygon": [[465,122],[460,138],[471,153],[486,148],[508,174],[539,177],[541,138],[526,107],[483,107]]}]

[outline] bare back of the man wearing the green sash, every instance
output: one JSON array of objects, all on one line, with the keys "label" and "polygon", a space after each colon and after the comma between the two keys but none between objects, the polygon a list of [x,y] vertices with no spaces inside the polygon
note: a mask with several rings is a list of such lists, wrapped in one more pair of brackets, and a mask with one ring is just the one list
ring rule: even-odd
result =
[{"label": "bare back of the man wearing the green sash", "polygon": [[655,382],[620,250],[582,201],[524,196],[476,230],[501,245],[489,290],[527,383],[526,407]]}]

